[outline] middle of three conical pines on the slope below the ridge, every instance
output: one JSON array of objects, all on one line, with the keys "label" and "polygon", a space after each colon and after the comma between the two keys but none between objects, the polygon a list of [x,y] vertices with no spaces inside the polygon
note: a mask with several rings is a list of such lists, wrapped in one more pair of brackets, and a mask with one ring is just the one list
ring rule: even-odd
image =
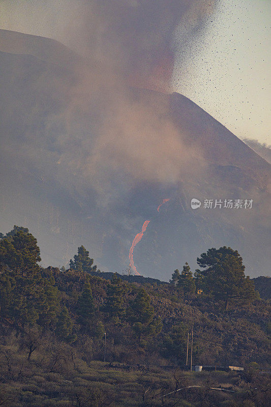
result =
[{"label": "middle of three conical pines on the slope below the ridge", "polygon": [[122,280],[117,276],[117,273],[113,274],[110,284],[107,286],[106,303],[104,311],[112,318],[119,318],[125,313],[124,307],[124,294],[125,286]]}]

